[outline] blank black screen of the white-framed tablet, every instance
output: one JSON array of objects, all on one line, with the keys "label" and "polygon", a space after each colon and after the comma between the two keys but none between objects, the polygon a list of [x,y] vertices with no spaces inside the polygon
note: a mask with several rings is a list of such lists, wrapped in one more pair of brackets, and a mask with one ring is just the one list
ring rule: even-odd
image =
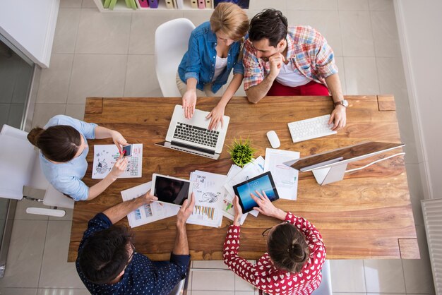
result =
[{"label": "blank black screen of the white-framed tablet", "polygon": [[160,202],[183,205],[189,195],[190,182],[156,175],[153,195]]}]

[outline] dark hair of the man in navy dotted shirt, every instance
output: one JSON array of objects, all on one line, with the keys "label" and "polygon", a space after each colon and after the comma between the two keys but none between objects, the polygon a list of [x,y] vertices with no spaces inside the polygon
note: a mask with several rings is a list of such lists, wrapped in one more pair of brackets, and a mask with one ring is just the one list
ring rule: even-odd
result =
[{"label": "dark hair of the man in navy dotted shirt", "polygon": [[124,270],[129,260],[131,233],[126,227],[113,225],[90,236],[78,253],[83,275],[95,284],[106,284]]}]

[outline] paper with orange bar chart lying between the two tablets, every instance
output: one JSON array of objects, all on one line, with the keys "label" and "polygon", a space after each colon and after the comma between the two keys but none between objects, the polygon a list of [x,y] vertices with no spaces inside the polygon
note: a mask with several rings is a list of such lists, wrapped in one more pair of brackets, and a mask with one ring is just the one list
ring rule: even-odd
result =
[{"label": "paper with orange bar chart lying between the two tablets", "polygon": [[205,171],[196,170],[191,173],[195,207],[187,223],[206,227],[221,226],[222,204],[226,194],[223,184],[226,178],[225,175]]}]

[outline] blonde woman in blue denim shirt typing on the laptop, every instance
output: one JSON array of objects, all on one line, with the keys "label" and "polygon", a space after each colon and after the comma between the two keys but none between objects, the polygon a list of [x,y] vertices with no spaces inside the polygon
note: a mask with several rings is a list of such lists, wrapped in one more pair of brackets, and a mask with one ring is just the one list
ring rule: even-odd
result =
[{"label": "blonde woman in blue denim shirt typing on the laptop", "polygon": [[[208,114],[209,129],[223,124],[225,107],[241,85],[244,76],[242,44],[249,30],[249,18],[237,4],[220,3],[210,21],[193,30],[189,49],[184,54],[177,73],[177,87],[183,96],[184,114],[193,116],[196,97],[222,96]],[[222,93],[233,69],[233,79]]]}]

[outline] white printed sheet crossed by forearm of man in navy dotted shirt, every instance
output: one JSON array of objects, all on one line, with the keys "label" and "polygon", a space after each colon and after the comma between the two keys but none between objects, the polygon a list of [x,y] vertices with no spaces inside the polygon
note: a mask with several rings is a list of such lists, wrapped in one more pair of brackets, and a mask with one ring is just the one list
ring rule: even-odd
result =
[{"label": "white printed sheet crossed by forearm of man in navy dotted shirt", "polygon": [[[147,193],[150,190],[151,185],[152,181],[149,181],[148,183],[143,183],[139,186],[121,191],[121,197],[123,198],[123,201],[138,198]],[[133,210],[127,215],[127,219],[129,220],[129,225],[133,228],[177,215],[178,211],[179,206],[153,202]]]}]

